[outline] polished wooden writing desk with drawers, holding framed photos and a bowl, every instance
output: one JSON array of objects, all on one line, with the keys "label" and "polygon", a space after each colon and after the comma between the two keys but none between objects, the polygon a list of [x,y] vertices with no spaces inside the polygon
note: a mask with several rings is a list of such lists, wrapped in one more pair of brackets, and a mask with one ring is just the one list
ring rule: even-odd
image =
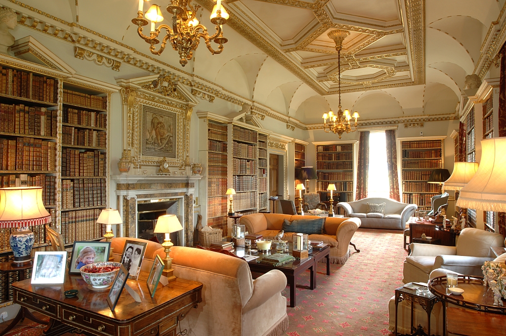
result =
[{"label": "polished wooden writing desk with drawers, holding framed photos and a bowl", "polygon": [[[46,336],[74,329],[99,336],[174,336],[178,321],[202,302],[202,283],[178,278],[166,286],[158,284],[151,298],[146,278],[147,274],[141,273],[139,281],[127,282],[141,302],[123,289],[114,312],[107,304],[109,291],[88,289],[79,275],[67,276],[62,285],[32,285],[30,279],[16,282],[14,303],[50,317]],[[77,297],[65,298],[63,292],[68,289],[78,289]]]}]

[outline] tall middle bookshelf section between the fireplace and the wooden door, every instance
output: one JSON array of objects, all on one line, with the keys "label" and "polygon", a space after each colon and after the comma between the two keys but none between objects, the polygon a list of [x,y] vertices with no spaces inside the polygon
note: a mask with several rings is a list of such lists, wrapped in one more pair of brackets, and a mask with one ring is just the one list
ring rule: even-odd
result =
[{"label": "tall middle bookshelf section between the fireplace and the wooden door", "polygon": [[[229,124],[229,132],[232,138],[232,148],[229,149],[229,157],[232,159],[232,188],[235,189],[234,211],[241,215],[249,215],[258,212],[258,183],[259,183],[259,133],[249,128],[240,127],[237,124]],[[264,139],[262,137],[262,139]],[[267,140],[267,139],[265,139]],[[267,141],[265,141],[267,144]],[[267,147],[267,146],[266,146]]]}]

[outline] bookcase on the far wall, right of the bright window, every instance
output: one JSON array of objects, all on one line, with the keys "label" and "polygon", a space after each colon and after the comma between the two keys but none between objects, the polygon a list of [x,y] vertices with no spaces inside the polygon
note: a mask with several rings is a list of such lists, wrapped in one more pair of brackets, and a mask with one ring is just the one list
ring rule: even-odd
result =
[{"label": "bookcase on the far wall, right of the bright window", "polygon": [[[423,139],[423,140],[421,140]],[[431,209],[431,198],[441,186],[427,183],[434,169],[444,167],[444,138],[399,138],[401,148],[402,201]]]}]

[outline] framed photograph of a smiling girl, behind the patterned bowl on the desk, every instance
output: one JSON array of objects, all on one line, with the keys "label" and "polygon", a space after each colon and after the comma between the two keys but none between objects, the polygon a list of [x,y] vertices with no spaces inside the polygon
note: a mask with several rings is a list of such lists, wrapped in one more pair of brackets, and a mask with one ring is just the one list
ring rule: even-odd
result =
[{"label": "framed photograph of a smiling girl, behind the patterned bowl on the desk", "polygon": [[109,261],[109,241],[74,241],[70,259],[69,274],[80,274],[82,266]]}]

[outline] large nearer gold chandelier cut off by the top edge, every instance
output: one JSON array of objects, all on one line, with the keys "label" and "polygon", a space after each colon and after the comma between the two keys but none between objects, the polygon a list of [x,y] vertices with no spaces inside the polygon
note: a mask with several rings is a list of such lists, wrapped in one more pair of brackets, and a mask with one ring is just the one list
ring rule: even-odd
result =
[{"label": "large nearer gold chandelier cut off by the top edge", "polygon": [[[154,55],[160,55],[168,43],[172,45],[172,49],[179,53],[179,63],[185,66],[188,60],[191,60],[193,51],[198,47],[200,38],[203,38],[207,49],[211,54],[220,54],[223,51],[223,44],[227,43],[228,39],[223,37],[223,27],[227,23],[229,14],[221,4],[221,0],[216,0],[217,3],[211,12],[211,22],[216,24],[216,33],[209,36],[207,28],[199,24],[196,15],[200,6],[190,4],[191,0],[172,0],[171,4],[167,6],[167,12],[172,15],[172,27],[167,24],[160,24],[155,27],[156,22],[163,21],[161,9],[158,5],[152,5],[146,12],[146,19],[151,21],[150,35],[146,36],[142,33],[143,26],[148,25],[148,20],[143,17],[144,1],[139,0],[139,11],[137,17],[132,19],[132,22],[139,26],[137,32],[147,43],[149,43],[149,50]],[[157,38],[162,29],[166,30],[165,36],[161,40],[160,49],[156,50],[155,45],[160,43]],[[218,50],[211,47],[211,41],[218,44]]]}]

